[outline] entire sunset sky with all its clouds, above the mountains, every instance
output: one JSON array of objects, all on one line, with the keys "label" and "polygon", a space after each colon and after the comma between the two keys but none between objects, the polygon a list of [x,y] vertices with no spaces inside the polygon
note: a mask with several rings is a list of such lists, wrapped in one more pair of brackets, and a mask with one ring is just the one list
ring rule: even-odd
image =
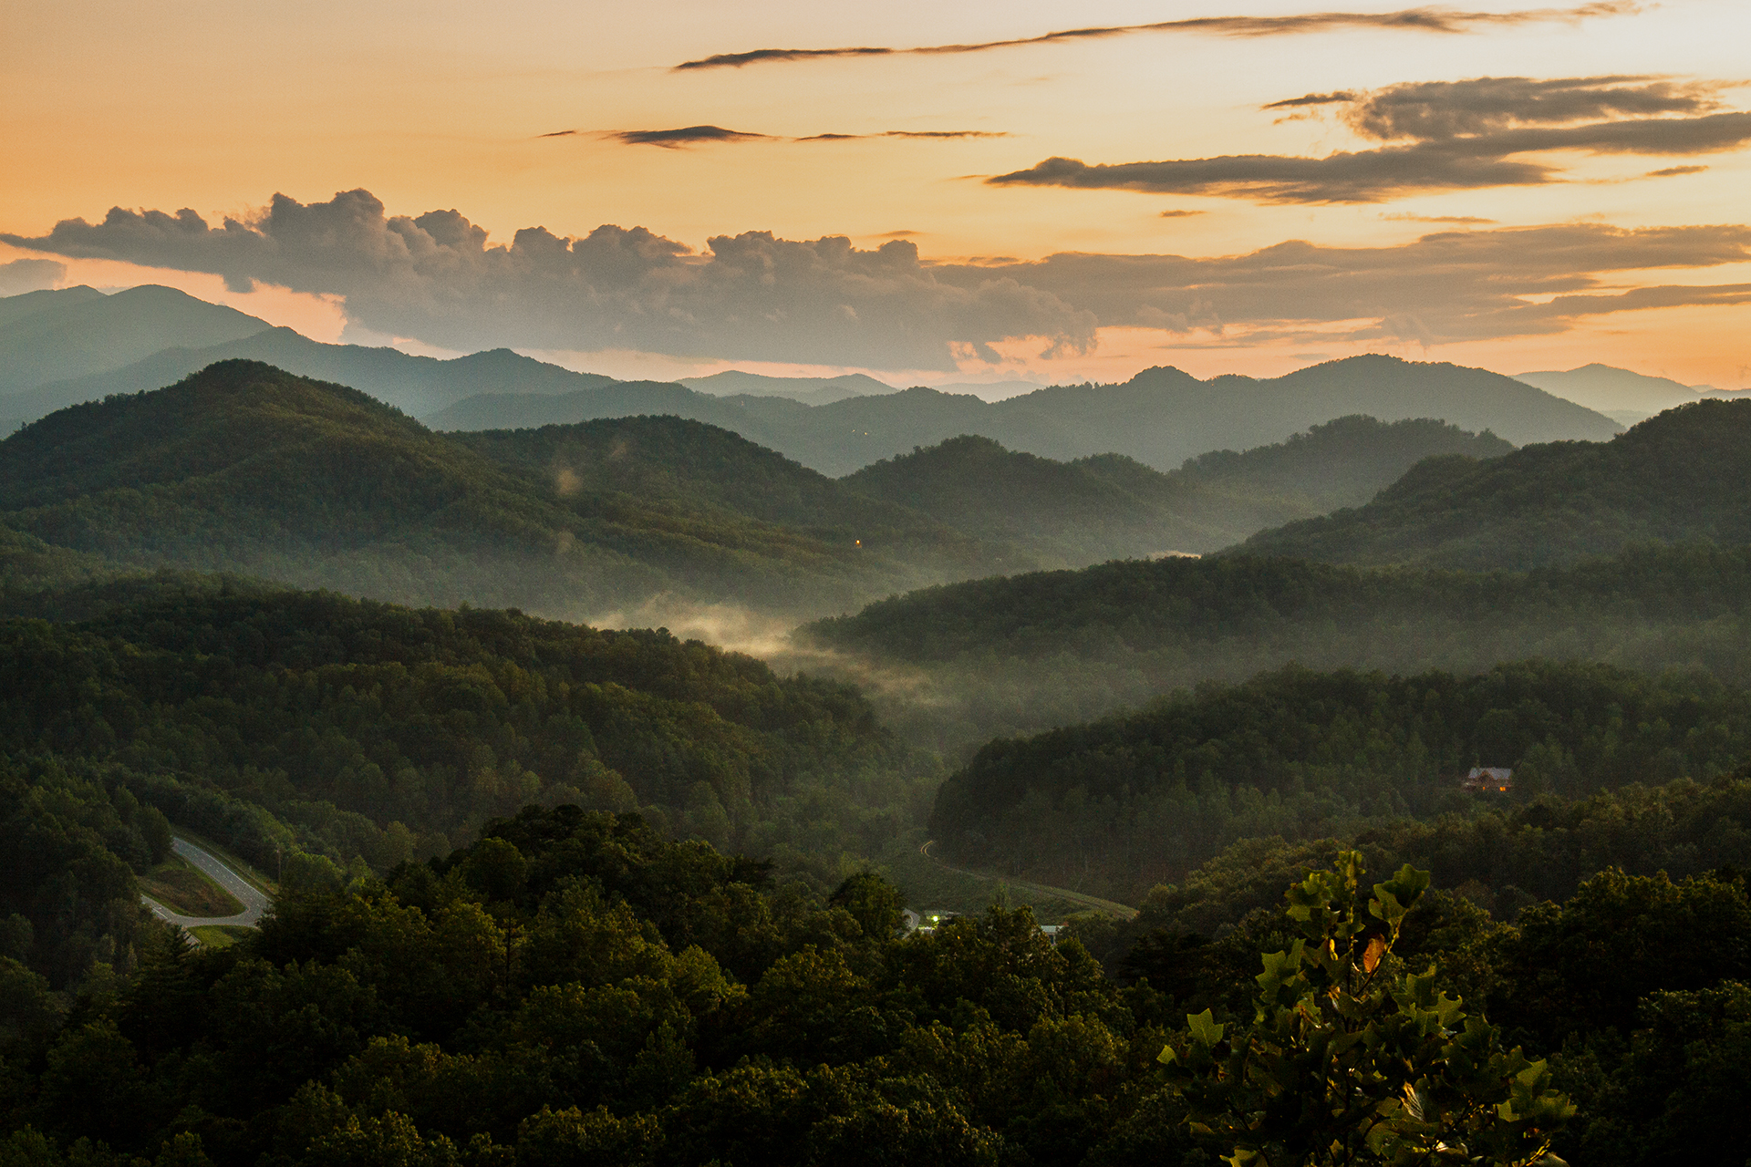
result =
[{"label": "entire sunset sky with all its clouds, above the mountains", "polygon": [[1329,3],[11,0],[0,294],[613,376],[1751,387],[1751,3]]}]

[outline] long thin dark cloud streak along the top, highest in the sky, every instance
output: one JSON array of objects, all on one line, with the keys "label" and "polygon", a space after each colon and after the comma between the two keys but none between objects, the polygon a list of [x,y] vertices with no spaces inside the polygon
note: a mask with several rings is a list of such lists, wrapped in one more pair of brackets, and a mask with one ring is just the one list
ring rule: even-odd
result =
[{"label": "long thin dark cloud streak along the top, highest in the sky", "polygon": [[1012,37],[1005,40],[977,40],[972,44],[940,44],[914,49],[861,45],[847,49],[749,49],[748,52],[720,52],[676,65],[679,70],[742,68],[774,61],[816,61],[833,58],[868,56],[939,56],[961,52],[989,52],[1019,45],[1065,44],[1079,40],[1105,40],[1135,37],[1138,33],[1203,33],[1215,37],[1285,37],[1299,33],[1338,31],[1348,28],[1382,28],[1424,33],[1467,33],[1485,28],[1513,28],[1536,23],[1578,23],[1588,17],[1625,16],[1641,5],[1625,0],[1607,3],[1581,3],[1567,9],[1523,9],[1520,12],[1464,12],[1446,7],[1403,9],[1399,12],[1308,12],[1303,16],[1203,16],[1182,21],[1154,21],[1149,24],[1103,24],[1094,28],[1066,28],[1038,37]]}]

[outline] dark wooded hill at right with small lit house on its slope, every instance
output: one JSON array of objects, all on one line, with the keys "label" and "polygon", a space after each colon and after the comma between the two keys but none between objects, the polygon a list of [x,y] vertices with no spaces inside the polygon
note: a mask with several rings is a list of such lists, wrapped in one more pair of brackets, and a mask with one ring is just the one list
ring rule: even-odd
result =
[{"label": "dark wooded hill at right with small lit house on its slope", "polygon": [[1707,782],[1751,758],[1751,695],[1697,675],[1530,661],[1483,675],[1285,668],[1150,709],[998,740],[944,782],[951,861],[1138,896],[1240,838],[1324,838],[1462,812],[1471,766],[1515,798]]}]

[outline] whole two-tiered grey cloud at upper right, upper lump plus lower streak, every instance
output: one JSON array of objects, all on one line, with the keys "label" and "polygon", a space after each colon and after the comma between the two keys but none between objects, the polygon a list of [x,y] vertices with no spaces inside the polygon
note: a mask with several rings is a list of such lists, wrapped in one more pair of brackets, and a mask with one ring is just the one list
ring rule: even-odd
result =
[{"label": "whole two-tiered grey cloud at upper right, upper lump plus lower streak", "polygon": [[[1527,156],[1688,156],[1751,142],[1751,114],[1714,112],[1716,89],[1646,77],[1478,77],[1373,93],[1310,93],[1264,108],[1345,107],[1341,117],[1357,135],[1387,145],[1326,157],[1231,154],[1115,164],[1049,157],[986,182],[1261,203],[1375,203],[1422,191],[1543,185],[1558,182],[1560,173]],[[1586,121],[1599,117],[1607,121]]]}]

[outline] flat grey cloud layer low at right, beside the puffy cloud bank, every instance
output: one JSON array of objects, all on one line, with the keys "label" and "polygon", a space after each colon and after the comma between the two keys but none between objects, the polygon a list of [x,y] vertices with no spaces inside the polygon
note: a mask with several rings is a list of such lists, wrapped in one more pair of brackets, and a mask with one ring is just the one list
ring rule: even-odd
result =
[{"label": "flat grey cloud layer low at right, beside the puffy cloud bank", "polygon": [[1093,311],[1103,327],[1205,329],[1227,343],[1443,343],[1562,332],[1585,317],[1641,308],[1751,303],[1742,283],[1614,290],[1623,276],[1613,273],[1740,262],[1751,262],[1751,226],[1555,224],[1443,231],[1396,247],[1287,241],[1212,259],[1063,254],[937,273],[1003,275]]}]

